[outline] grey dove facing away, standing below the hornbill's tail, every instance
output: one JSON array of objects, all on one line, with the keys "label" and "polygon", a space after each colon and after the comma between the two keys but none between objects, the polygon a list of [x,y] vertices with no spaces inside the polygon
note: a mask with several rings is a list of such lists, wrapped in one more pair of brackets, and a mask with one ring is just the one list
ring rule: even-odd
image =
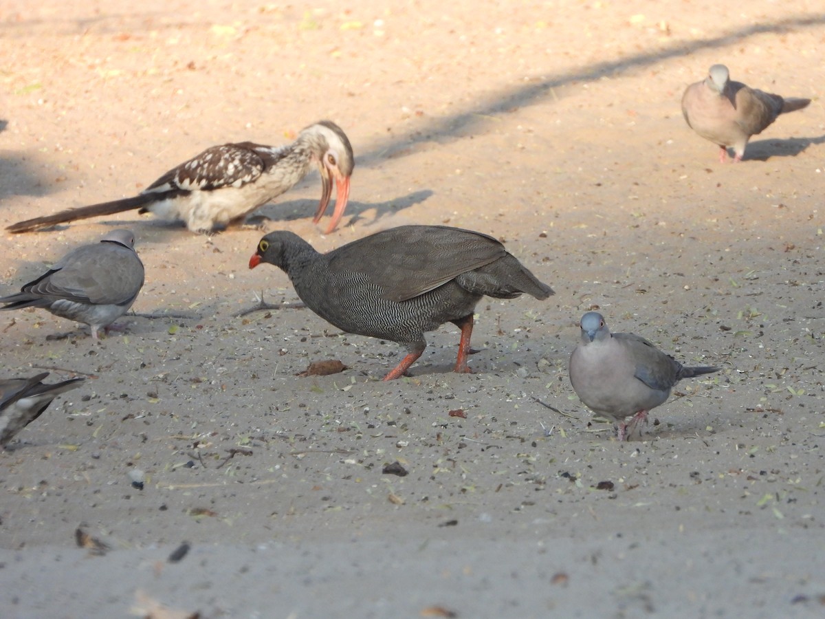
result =
[{"label": "grey dove facing away, standing below the hornbill's tail", "polygon": [[144,285],[144,264],[131,230],[114,230],[99,243],[81,245],[16,295],[0,298],[0,309],[42,307],[55,316],[88,324],[92,338],[132,306]]}]

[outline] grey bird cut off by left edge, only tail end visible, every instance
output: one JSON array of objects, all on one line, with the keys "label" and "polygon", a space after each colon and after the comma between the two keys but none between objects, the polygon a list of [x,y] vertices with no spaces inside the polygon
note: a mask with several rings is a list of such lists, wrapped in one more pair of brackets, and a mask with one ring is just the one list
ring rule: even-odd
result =
[{"label": "grey bird cut off by left edge, only tail end visible", "polygon": [[0,447],[29,423],[40,417],[51,401],[64,391],[79,387],[85,378],[72,378],[54,385],[44,385],[49,372],[31,378],[0,380]]}]

